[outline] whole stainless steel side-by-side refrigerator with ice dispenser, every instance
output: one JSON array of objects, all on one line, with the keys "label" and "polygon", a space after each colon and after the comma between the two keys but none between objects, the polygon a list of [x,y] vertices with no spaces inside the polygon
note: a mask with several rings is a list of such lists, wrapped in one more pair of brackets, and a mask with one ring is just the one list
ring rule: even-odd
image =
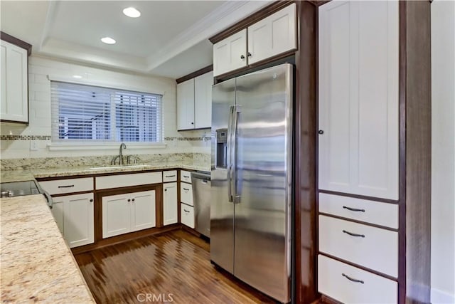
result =
[{"label": "whole stainless steel side-by-side refrigerator with ice dispenser", "polygon": [[291,289],[293,67],[213,85],[210,259],[287,303]]}]

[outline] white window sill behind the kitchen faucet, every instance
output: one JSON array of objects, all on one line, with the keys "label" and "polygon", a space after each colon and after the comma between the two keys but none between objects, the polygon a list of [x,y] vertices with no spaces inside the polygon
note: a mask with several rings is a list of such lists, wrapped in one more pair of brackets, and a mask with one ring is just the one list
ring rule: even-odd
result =
[{"label": "white window sill behind the kitchen faucet", "polygon": [[[48,144],[49,151],[75,151],[75,150],[119,150],[121,142],[53,142]],[[127,149],[163,149],[167,147],[164,142],[125,142]]]}]

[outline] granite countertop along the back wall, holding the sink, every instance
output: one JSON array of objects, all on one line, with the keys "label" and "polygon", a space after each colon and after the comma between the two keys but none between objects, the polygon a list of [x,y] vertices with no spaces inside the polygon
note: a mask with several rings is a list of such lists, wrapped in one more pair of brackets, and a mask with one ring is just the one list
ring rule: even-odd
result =
[{"label": "granite countertop along the back wall, holding the sink", "polygon": [[134,164],[106,167],[66,167],[53,169],[4,170],[1,171],[1,182],[21,182],[43,177],[70,177],[75,175],[141,172],[144,170],[161,170],[173,168],[196,171],[210,171],[210,167],[198,164]]}]

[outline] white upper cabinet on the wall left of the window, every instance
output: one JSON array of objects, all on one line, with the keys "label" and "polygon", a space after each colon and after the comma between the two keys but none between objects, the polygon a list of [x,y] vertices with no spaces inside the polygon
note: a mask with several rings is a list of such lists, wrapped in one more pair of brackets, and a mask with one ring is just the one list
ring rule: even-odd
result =
[{"label": "white upper cabinet on the wall left of the window", "polygon": [[27,50],[1,41],[0,118],[28,123]]}]

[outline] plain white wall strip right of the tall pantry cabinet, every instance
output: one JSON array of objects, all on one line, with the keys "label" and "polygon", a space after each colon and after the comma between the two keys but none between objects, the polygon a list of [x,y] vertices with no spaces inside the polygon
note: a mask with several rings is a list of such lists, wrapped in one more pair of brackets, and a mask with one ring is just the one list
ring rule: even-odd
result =
[{"label": "plain white wall strip right of the tall pantry cabinet", "polygon": [[432,303],[455,303],[455,1],[431,9]]}]

